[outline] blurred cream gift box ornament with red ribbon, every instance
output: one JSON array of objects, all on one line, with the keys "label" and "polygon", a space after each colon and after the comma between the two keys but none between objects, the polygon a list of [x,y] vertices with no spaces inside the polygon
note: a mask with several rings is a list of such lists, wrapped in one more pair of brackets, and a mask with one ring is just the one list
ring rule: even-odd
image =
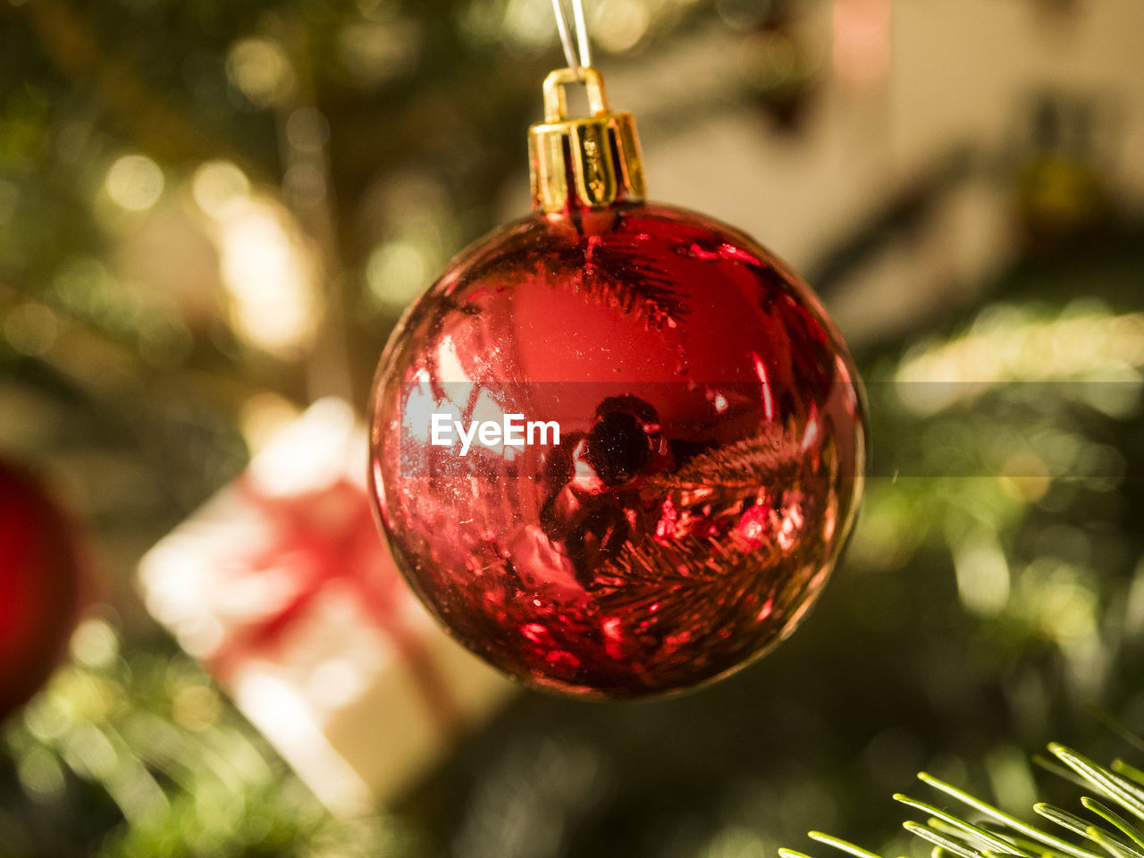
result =
[{"label": "blurred cream gift box ornament with red ribbon", "polygon": [[325,399],[140,565],[151,613],[337,812],[394,801],[515,686],[402,579],[366,436]]}]

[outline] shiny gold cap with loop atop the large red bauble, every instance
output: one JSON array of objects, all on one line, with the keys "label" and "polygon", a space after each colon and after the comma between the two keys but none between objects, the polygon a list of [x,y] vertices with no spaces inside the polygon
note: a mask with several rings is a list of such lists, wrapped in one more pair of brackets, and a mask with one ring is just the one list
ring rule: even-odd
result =
[{"label": "shiny gold cap with loop atop the large red bauble", "polygon": [[[591,116],[569,118],[564,88],[582,82]],[[604,79],[590,66],[545,78],[545,121],[529,128],[534,208],[554,214],[571,204],[603,208],[646,194],[639,136],[630,113],[613,113]]]}]

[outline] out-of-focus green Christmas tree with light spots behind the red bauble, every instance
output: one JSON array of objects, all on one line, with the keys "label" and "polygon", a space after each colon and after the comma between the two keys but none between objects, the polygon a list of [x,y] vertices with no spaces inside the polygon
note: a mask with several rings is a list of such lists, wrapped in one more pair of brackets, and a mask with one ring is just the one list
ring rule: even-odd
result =
[{"label": "out-of-focus green Christmas tree with light spots behind the red bauble", "polygon": [[[750,46],[716,106],[787,127],[825,73],[799,6],[591,8],[618,54],[697,27]],[[364,400],[396,316],[500,220],[553,45],[547,3],[517,0],[0,11],[0,445],[82,513],[109,605],[5,725],[0,856],[730,858],[808,825],[879,843],[881,794],[919,768],[1025,812],[1025,749],[1105,755],[1093,704],[1138,723],[1144,240],[1055,138],[1011,182],[1027,253],[858,355],[875,458],[849,562],[741,675],[625,707],[525,696],[344,820],[146,618],[142,553],[305,400]],[[959,175],[873,216],[818,284]]]}]

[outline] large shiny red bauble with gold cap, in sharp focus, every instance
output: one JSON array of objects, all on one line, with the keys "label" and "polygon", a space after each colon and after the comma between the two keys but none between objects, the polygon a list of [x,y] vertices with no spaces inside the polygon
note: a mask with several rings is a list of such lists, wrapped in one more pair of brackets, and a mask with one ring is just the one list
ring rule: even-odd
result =
[{"label": "large shiny red bauble with gold cap, in sharp focus", "polygon": [[[861,494],[850,356],[744,233],[642,202],[631,117],[545,84],[534,213],[414,304],[379,367],[372,488],[398,565],[525,682],[681,690],[786,637]],[[557,437],[558,431],[558,437]],[[468,439],[468,444],[466,444]]]}]

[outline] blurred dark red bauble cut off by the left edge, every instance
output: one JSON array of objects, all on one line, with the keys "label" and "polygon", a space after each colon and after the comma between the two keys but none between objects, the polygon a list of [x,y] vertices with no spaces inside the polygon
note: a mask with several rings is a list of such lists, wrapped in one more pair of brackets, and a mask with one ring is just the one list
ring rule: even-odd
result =
[{"label": "blurred dark red bauble cut off by the left edge", "polygon": [[59,664],[79,617],[74,525],[30,476],[0,461],[0,718]]}]

